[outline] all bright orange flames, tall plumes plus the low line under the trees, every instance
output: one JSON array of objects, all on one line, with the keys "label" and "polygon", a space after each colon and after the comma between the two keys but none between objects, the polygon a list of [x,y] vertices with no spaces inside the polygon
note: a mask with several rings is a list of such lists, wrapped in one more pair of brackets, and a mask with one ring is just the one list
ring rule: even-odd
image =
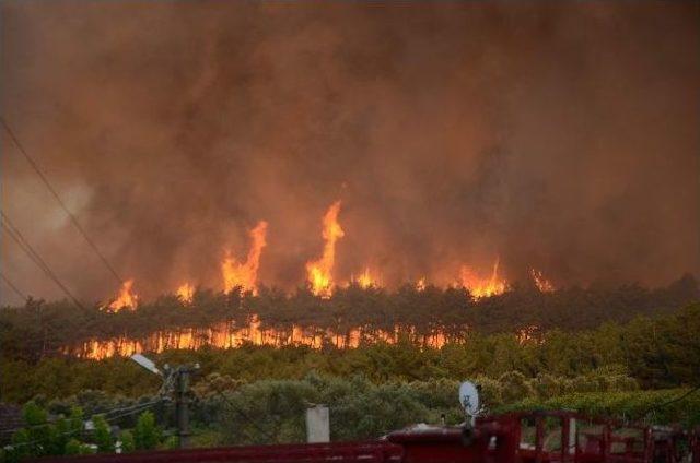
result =
[{"label": "all bright orange flames, tall plumes plus the low line under the trees", "polygon": [[[355,278],[351,276],[349,281],[341,283],[335,275],[336,244],[345,236],[340,225],[341,202],[334,202],[324,214],[322,223],[323,253],[320,258],[306,263],[307,281],[306,288],[319,299],[330,299],[334,293],[342,287],[348,290],[350,287],[358,287],[363,290],[383,292],[370,268]],[[397,321],[394,327],[371,328],[366,325],[369,320],[360,320],[355,325],[347,325],[345,330],[337,328],[319,328],[315,325],[302,325],[292,323],[284,329],[261,328],[258,313],[249,311],[246,307],[249,301],[246,299],[258,295],[257,274],[260,266],[262,250],[266,246],[267,222],[259,222],[249,232],[250,247],[245,261],[237,262],[230,252],[221,263],[222,286],[224,295],[235,293],[243,296],[240,307],[236,309],[245,311],[246,318],[238,324],[232,320],[220,321],[206,328],[186,328],[178,330],[159,330],[147,335],[144,339],[133,339],[119,336],[116,339],[91,339],[85,341],[79,348],[67,347],[65,353],[77,355],[83,358],[101,359],[114,355],[130,356],[140,352],[163,352],[165,349],[197,349],[202,346],[219,348],[240,347],[244,344],[253,345],[305,345],[313,348],[320,348],[324,344],[330,344],[336,348],[358,347],[361,342],[385,342],[397,343],[404,337],[412,343],[425,347],[442,347],[446,341],[463,342],[468,332],[468,324],[464,323],[460,330],[448,333],[443,327],[433,327],[429,333],[421,333],[416,325],[407,324],[406,321]],[[499,275],[499,259],[495,259],[489,276],[481,276],[474,273],[467,265],[462,265],[459,270],[459,281],[451,285],[450,288],[456,290],[465,299],[465,302],[502,295],[508,288],[508,282]],[[533,270],[533,282],[535,288],[542,293],[553,292],[553,285],[545,280],[541,272]],[[409,287],[411,284],[409,284]],[[415,290],[425,292],[425,282],[422,280],[413,285]],[[434,286],[433,286],[434,288]],[[177,299],[190,306],[194,302],[196,288],[185,283],[180,285],[174,294]],[[128,280],[119,289],[118,296],[102,306],[102,310],[118,312],[120,310],[139,309],[139,296],[133,289],[133,280]],[[280,306],[281,309],[281,306]],[[537,327],[528,327],[529,331],[537,331]],[[522,335],[521,335],[522,337]]]}]

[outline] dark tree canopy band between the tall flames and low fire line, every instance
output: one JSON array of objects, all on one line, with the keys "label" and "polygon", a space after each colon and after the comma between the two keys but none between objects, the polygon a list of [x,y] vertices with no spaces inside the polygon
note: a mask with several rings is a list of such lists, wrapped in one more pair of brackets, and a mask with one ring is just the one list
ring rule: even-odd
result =
[{"label": "dark tree canopy band between the tall flames and low fire line", "polygon": [[162,330],[207,328],[219,322],[238,327],[254,316],[260,329],[290,331],[293,325],[335,333],[361,327],[365,331],[395,328],[418,337],[441,332],[448,339],[467,334],[513,333],[527,327],[539,332],[580,331],[605,322],[627,322],[637,316],[663,316],[700,299],[698,282],[685,275],[666,287],[637,284],[568,287],[540,293],[533,284],[514,285],[504,294],[471,298],[465,288],[405,285],[395,290],[358,285],[338,288],[323,299],[308,288],[292,294],[261,287],[257,295],[198,289],[191,302],[164,295],[138,310],[110,312],[98,305],[79,308],[70,301],[28,300],[0,308],[0,354],[36,363],[65,353],[91,339],[143,339]]}]

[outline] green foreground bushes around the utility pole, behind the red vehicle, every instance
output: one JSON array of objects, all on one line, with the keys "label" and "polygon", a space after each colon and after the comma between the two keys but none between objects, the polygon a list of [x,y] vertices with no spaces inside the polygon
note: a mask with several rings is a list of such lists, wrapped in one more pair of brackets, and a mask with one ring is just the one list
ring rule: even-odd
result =
[{"label": "green foreground bushes around the utility pole, behind the red vehicle", "polygon": [[[472,380],[481,389],[485,413],[570,408],[625,420],[687,427],[700,424],[700,394],[688,394],[687,389],[640,391],[637,382],[619,370],[532,379],[511,371],[498,379]],[[192,391],[194,443],[303,442],[304,411],[312,404],[329,407],[334,440],[374,439],[416,423],[438,424],[443,417],[448,424],[458,424],[464,416],[457,404],[457,387],[458,381],[448,379],[376,384],[361,376],[343,379],[310,373],[298,380],[245,382],[214,373],[200,379]],[[680,400],[674,401],[677,397]],[[171,405],[154,404],[138,418],[128,413],[153,402],[153,396],[126,399],[98,391],[63,400],[38,396],[24,407],[25,420],[32,426],[13,436],[5,458],[174,447],[175,437],[156,425],[172,424]],[[92,432],[81,429],[85,416],[92,417]],[[108,424],[120,426],[121,431],[110,434]]]}]

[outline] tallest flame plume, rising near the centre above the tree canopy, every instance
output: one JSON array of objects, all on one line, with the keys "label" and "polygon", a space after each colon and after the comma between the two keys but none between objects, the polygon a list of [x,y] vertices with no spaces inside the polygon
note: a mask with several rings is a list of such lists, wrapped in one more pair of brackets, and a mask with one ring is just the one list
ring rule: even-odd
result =
[{"label": "tallest flame plume, rising near the centre above the tree canopy", "polygon": [[306,263],[307,280],[311,290],[316,296],[329,298],[332,294],[332,266],[336,260],[336,241],[345,236],[338,223],[340,201],[336,201],[323,218],[324,253],[320,259]]}]

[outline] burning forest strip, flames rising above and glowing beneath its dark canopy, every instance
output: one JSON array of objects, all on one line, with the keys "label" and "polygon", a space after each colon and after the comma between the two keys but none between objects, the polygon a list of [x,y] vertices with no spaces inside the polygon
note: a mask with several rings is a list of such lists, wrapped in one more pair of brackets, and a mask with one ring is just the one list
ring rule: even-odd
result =
[{"label": "burning forest strip, flames rising above and glowing beneath its dark canopy", "polygon": [[[692,301],[700,294],[689,275],[668,288],[651,292],[634,285],[558,289],[534,268],[524,281],[509,281],[499,256],[487,271],[457,262],[453,265],[455,277],[443,280],[443,284],[421,276],[384,286],[376,268],[365,265],[358,276],[338,272],[338,244],[348,238],[341,223],[342,202],[335,201],[319,221],[320,256],[306,262],[306,280],[293,292],[266,286],[259,278],[268,239],[275,240],[268,222],[259,221],[247,233],[244,259],[230,249],[224,251],[219,288],[187,281],[172,294],[149,301],[139,296],[133,278],[126,280],[113,299],[97,304],[86,316],[91,330],[78,329],[50,343],[45,340],[40,355],[105,359],[205,347],[350,349],[376,343],[442,348],[468,343],[489,331],[510,333],[521,344],[540,343],[551,329],[626,321],[634,314]],[[625,300],[621,306],[620,298]],[[32,304],[28,300],[27,307]],[[618,305],[615,314],[605,311],[609,304]],[[582,317],[581,309],[590,313]]]}]

